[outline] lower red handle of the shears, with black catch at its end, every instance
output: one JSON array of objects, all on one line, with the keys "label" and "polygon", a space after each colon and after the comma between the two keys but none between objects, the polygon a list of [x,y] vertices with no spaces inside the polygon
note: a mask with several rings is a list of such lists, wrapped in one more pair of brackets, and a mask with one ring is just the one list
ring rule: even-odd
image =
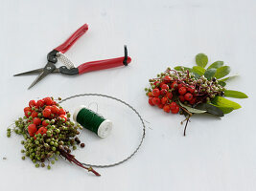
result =
[{"label": "lower red handle of the shears, with black catch at its end", "polygon": [[112,59],[105,59],[105,60],[83,63],[78,67],[79,74],[88,73],[91,71],[110,69],[118,66],[124,66],[131,61],[131,58],[128,56],[125,64],[124,63],[125,58],[126,57],[123,56],[123,57],[117,57]]}]

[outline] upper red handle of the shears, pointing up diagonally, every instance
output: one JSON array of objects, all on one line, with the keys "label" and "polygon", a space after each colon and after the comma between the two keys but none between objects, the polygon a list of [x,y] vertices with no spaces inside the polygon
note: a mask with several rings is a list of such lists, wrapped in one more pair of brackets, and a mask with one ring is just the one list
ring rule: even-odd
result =
[{"label": "upper red handle of the shears, pointing up diagonally", "polygon": [[55,50],[60,53],[66,53],[72,45],[85,33],[88,31],[88,25],[84,24],[74,32],[63,44],[59,45]]}]

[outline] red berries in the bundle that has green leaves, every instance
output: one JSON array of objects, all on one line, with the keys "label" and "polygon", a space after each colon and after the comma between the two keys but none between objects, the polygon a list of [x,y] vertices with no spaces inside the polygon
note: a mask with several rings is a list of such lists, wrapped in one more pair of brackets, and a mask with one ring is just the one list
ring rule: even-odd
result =
[{"label": "red berries in the bundle that has green leaves", "polygon": [[178,100],[191,105],[197,101],[194,86],[174,80],[169,75],[155,80],[151,89],[146,91],[148,91],[147,95],[151,106],[156,105],[167,113],[177,114],[179,112]]}]

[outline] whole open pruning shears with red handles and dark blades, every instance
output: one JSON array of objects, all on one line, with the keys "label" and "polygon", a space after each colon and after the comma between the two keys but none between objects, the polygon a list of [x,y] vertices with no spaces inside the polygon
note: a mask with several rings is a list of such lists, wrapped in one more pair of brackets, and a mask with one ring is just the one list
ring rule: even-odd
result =
[{"label": "whole open pruning shears with red handles and dark blades", "polygon": [[[30,89],[42,78],[52,73],[75,75],[119,67],[123,65],[128,66],[128,63],[131,61],[131,58],[128,56],[128,49],[127,46],[125,46],[125,56],[123,57],[85,62],[81,64],[79,67],[75,67],[75,65],[69,60],[69,58],[64,53],[66,53],[74,45],[74,43],[87,31],[88,25],[82,25],[81,28],[74,32],[63,44],[59,45],[56,49],[48,53],[48,62],[44,68],[36,69],[21,74],[14,74],[14,76],[38,74],[38,76],[35,78],[35,81],[29,87]],[[57,68],[55,64],[58,62],[58,59],[65,66]]]}]

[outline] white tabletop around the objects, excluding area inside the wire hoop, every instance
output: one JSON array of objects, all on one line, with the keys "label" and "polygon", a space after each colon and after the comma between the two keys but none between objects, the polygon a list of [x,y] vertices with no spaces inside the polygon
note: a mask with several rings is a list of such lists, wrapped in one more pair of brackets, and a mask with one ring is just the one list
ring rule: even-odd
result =
[{"label": "white tabletop around the objects, excluding area inside the wire hoop", "polygon": [[[253,0],[0,1],[0,190],[190,190],[256,189],[255,54]],[[81,76],[52,74],[35,88],[35,76],[13,77],[44,66],[46,54],[83,23],[89,31],[67,55],[75,63],[123,55],[132,62]],[[197,53],[223,60],[240,77],[228,88],[249,96],[243,108],[221,120],[193,117],[182,136],[183,117],[148,105],[148,78],[167,66],[193,66]],[[88,175],[66,161],[51,171],[20,159],[19,139],[6,127],[31,98],[103,93],[134,106],[151,122],[139,153],[120,166]],[[3,157],[7,157],[3,160]]]}]

